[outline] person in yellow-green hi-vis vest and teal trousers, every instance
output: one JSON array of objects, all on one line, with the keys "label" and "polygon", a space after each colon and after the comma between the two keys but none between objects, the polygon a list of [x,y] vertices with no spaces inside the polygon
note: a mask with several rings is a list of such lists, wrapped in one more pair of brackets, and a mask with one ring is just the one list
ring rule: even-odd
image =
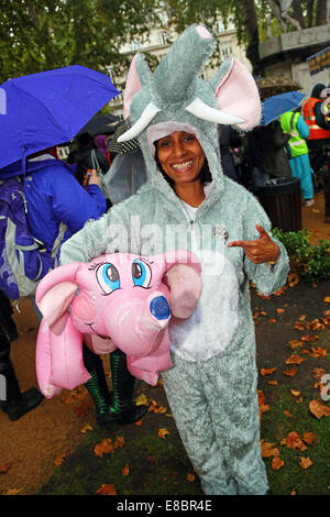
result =
[{"label": "person in yellow-green hi-vis vest and teal trousers", "polygon": [[292,136],[289,164],[293,176],[300,179],[300,188],[306,207],[314,205],[312,168],[309,162],[307,139],[309,129],[298,110],[287,111],[279,118],[282,129]]}]

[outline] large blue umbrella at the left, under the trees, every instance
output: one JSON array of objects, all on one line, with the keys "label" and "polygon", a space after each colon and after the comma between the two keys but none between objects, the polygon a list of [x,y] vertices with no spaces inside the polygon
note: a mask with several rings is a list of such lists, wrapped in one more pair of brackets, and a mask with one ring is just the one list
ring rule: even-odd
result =
[{"label": "large blue umbrella at the left, under the trees", "polygon": [[0,168],[70,141],[119,91],[110,78],[79,65],[0,86]]}]

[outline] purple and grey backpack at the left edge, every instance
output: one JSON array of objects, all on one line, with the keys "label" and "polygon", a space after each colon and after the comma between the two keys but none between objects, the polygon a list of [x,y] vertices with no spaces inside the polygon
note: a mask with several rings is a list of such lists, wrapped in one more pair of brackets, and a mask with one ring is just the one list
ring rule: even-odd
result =
[{"label": "purple and grey backpack at the left edge", "polygon": [[32,297],[38,280],[57,266],[57,252],[66,231],[61,223],[52,253],[29,228],[23,179],[0,180],[0,290],[18,300]]}]

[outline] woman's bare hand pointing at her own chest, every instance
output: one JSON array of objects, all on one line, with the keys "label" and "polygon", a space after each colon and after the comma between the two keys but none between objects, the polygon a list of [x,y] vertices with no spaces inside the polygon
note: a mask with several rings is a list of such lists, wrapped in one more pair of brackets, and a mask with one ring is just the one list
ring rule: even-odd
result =
[{"label": "woman's bare hand pointing at her own chest", "polygon": [[260,233],[258,239],[255,241],[232,241],[227,244],[228,248],[243,248],[245,255],[253,264],[275,263],[279,256],[279,246],[275,244],[263,227],[255,224],[255,228]]}]

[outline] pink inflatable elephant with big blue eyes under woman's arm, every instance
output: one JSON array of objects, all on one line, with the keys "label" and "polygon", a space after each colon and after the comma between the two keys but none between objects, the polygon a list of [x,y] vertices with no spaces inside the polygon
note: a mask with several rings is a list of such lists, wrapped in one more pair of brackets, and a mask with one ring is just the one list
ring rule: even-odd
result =
[{"label": "pink inflatable elephant with big blue eyes under woman's arm", "polygon": [[170,316],[189,318],[200,293],[200,264],[190,252],[113,253],[53,270],[35,297],[43,314],[36,341],[41,392],[52,398],[90,378],[82,340],[97,354],[118,346],[130,372],[154,386],[172,366]]}]

